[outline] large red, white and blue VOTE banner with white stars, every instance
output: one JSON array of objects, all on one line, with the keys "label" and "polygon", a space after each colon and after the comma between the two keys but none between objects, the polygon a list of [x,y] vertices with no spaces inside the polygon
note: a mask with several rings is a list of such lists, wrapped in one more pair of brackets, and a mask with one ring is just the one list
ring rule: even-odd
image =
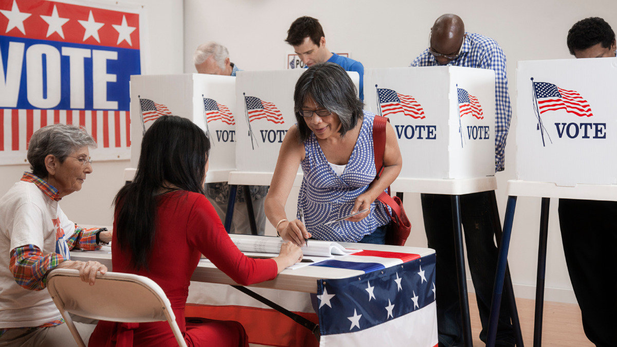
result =
[{"label": "large red, white and blue VOTE banner with white stars", "polygon": [[94,160],[128,159],[142,24],[138,6],[0,2],[0,164],[27,162],[33,132],[53,123],[85,128]]}]

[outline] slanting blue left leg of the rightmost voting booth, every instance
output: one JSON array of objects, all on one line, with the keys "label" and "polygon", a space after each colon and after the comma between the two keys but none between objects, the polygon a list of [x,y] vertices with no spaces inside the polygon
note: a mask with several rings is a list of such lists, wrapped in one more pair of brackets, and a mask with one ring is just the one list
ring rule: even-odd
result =
[{"label": "slanting blue left leg of the rightmost voting booth", "polygon": [[491,315],[489,316],[489,332],[486,338],[486,346],[495,346],[497,337],[497,323],[499,322],[499,308],[501,305],[503,278],[505,277],[508,262],[508,248],[510,248],[510,236],[512,234],[512,222],[516,208],[516,196],[508,196],[508,204],[505,208],[505,220],[503,221],[503,235],[499,245],[499,257],[497,257],[497,271],[495,273],[495,285],[493,286],[493,299],[491,302]]}]

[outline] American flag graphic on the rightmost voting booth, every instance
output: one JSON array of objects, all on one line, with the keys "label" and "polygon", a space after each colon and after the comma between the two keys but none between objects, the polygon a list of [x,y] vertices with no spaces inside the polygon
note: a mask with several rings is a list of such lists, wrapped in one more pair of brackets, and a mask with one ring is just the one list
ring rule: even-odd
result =
[{"label": "American flag graphic on the rightmost voting booth", "polygon": [[547,111],[566,110],[579,117],[591,117],[589,102],[578,91],[561,89],[552,83],[533,82],[540,114]]}]

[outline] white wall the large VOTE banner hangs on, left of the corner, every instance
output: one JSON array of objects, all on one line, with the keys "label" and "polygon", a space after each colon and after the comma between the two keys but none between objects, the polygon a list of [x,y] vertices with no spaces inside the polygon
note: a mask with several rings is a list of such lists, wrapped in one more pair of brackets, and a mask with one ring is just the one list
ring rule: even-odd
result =
[{"label": "white wall the large VOTE banner hangs on, left of the corner", "polygon": [[[143,6],[146,19],[145,35],[141,43],[145,56],[143,73],[182,73],[183,61],[183,2],[182,0],[97,1],[118,5]],[[161,49],[164,48],[164,49]],[[96,161],[81,191],[62,199],[62,209],[73,222],[91,225],[112,225],[111,208],[115,193],[123,185],[123,171],[130,161]],[[0,166],[0,196],[17,182],[28,165]]]}]

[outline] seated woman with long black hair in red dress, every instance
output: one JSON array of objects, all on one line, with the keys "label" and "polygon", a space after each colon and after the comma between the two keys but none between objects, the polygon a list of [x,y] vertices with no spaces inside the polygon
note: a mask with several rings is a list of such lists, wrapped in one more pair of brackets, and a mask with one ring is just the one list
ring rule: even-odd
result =
[{"label": "seated woman with long black hair in red dress", "polygon": [[[154,280],[172,304],[188,346],[248,346],[238,322],[185,323],[189,280],[200,254],[241,285],[272,280],[302,258],[284,243],[273,259],[251,259],[233,244],[204,196],[210,142],[201,128],[176,116],[157,119],[144,134],[132,183],[115,198],[114,272]],[[101,321],[89,346],[177,346],[167,322]]]}]

